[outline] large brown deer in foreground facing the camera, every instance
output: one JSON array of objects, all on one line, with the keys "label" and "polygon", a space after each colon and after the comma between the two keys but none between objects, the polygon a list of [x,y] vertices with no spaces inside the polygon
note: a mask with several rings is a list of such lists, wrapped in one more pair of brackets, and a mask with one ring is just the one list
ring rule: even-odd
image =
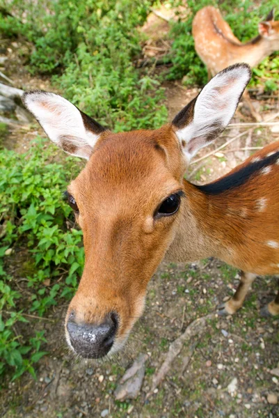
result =
[{"label": "large brown deer in foreground facing the camera", "polygon": [[[88,160],[67,187],[85,265],[65,337],[80,357],[110,357],[125,345],[163,259],[214,256],[239,268],[221,314],[241,308],[257,275],[279,272],[279,142],[207,185],[184,178],[191,157],[230,123],[250,75],[246,63],[222,70],[157,130],[113,133],[60,95],[24,93],[49,139]],[[264,313],[279,314],[279,293]]]}]

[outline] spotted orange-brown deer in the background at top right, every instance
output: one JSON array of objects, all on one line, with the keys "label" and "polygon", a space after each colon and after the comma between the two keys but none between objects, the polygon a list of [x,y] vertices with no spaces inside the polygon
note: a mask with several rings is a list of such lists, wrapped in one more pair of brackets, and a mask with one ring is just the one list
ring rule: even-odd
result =
[{"label": "spotted orange-brown deer in the background at top right", "polygon": [[[192,33],[196,52],[207,67],[208,79],[235,63],[245,62],[251,68],[256,67],[266,56],[279,50],[279,21],[274,21],[273,9],[266,20],[258,24],[258,31],[256,38],[241,43],[217,8],[200,9],[193,19]],[[244,99],[253,118],[262,121],[248,91],[244,92]]]}]

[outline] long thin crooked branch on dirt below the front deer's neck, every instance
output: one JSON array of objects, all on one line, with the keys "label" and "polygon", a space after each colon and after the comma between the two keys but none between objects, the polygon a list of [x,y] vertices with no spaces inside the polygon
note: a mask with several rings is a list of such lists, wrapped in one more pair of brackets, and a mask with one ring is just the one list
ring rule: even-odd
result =
[{"label": "long thin crooked branch on dirt below the front deer's neck", "polygon": [[[158,373],[154,375],[152,380],[152,388],[150,392],[146,395],[146,399],[148,399],[154,392],[154,389],[157,388],[158,385],[164,380],[166,374],[170,370],[170,366],[173,363],[173,360],[177,355],[180,354],[180,351],[182,350],[182,347],[186,341],[193,338],[193,336],[196,336],[197,334],[200,334],[205,328],[205,325],[207,325],[207,320],[215,318],[216,314],[209,314],[206,316],[203,316],[202,318],[198,318],[196,320],[193,320],[193,322],[186,327],[186,330],[183,334],[181,334],[173,343],[170,344],[170,348],[168,349],[168,353],[166,355],[166,359],[164,363],[161,365]],[[187,359],[188,363],[191,359],[191,356],[188,356],[189,359]],[[185,366],[186,368],[186,366]]]}]

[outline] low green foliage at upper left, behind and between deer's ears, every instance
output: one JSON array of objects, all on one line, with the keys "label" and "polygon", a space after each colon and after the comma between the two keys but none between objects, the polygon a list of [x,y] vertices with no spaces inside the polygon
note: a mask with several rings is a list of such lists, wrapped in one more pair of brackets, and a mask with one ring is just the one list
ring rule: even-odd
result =
[{"label": "low green foliage at upper left, behind and between deer's ears", "polygon": [[13,16],[0,15],[0,29],[10,36],[15,22],[13,34],[35,46],[30,71],[54,75],[63,95],[100,123],[116,131],[159,127],[167,116],[164,89],[133,63],[141,53],[138,26],[151,4],[57,0],[26,6],[12,0],[6,10]]}]

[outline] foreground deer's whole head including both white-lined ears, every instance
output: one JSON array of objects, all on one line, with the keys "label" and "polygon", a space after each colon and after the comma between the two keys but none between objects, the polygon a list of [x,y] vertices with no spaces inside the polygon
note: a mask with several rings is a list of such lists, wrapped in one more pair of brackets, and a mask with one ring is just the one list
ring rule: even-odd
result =
[{"label": "foreground deer's whole head including both white-lined ears", "polygon": [[249,79],[247,65],[234,65],[216,75],[173,123],[120,134],[104,130],[58,95],[25,94],[49,138],[88,160],[67,190],[86,261],[65,334],[82,357],[103,357],[125,343],[191,199],[185,194],[186,164],[228,125]]}]

